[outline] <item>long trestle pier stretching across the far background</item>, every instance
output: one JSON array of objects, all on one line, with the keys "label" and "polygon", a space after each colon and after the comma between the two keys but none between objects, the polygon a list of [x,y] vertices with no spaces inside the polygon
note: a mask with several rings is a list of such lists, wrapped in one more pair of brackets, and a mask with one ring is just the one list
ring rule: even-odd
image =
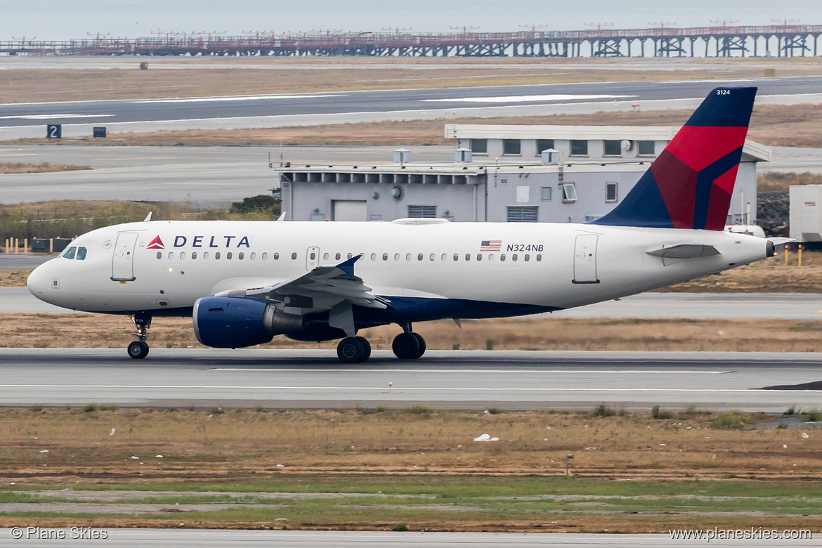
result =
[{"label": "long trestle pier stretching across the far background", "polygon": [[365,57],[806,57],[822,25],[708,26],[455,34],[302,33],[0,41],[6,55]]}]

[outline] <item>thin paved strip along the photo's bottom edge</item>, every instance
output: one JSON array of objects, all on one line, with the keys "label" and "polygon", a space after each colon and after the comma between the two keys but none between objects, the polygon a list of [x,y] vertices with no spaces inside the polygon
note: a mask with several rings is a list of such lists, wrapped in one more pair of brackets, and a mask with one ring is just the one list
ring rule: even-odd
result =
[{"label": "thin paved strip along the photo's bottom edge", "polygon": [[[66,540],[12,541],[11,529],[0,529],[0,547],[77,546],[66,532]],[[48,529],[47,531],[58,531]],[[768,541],[672,541],[670,535],[592,535],[574,533],[497,533],[497,532],[342,532],[342,531],[215,531],[182,529],[105,529],[106,540],[87,544],[118,546],[169,546],[169,548],[200,546],[310,546],[311,548],[360,548],[361,546],[425,546],[425,548],[459,548],[460,546],[517,548],[569,548],[570,546],[768,546]],[[780,531],[781,532],[781,531]],[[819,535],[816,535],[819,536]],[[822,540],[775,541],[777,546],[822,546]]]}]

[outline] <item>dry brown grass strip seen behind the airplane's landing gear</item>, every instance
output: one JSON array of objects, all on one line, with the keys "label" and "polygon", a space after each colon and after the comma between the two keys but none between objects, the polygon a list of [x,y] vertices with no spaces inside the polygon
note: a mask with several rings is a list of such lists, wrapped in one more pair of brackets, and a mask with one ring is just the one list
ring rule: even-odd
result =
[{"label": "dry brown grass strip seen behind the airplane's landing gear", "polygon": [[[822,322],[797,320],[635,320],[553,317],[450,320],[415,325],[431,350],[636,350],[822,352]],[[126,316],[2,314],[0,346],[7,348],[125,348],[133,325]],[[372,348],[388,350],[395,325],[363,329]],[[190,318],[155,318],[154,348],[204,348]],[[490,343],[489,343],[490,341]],[[336,348],[284,336],[259,348]]]}]

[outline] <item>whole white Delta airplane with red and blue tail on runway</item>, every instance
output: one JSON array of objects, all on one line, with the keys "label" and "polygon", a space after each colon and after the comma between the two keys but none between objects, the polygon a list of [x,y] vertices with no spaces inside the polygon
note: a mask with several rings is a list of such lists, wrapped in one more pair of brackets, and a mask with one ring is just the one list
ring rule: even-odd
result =
[{"label": "whole white Delta airplane with red and blue tail on runway", "polygon": [[423,356],[421,321],[558,311],[774,256],[724,232],[756,88],[712,90],[615,209],[587,223],[158,221],[99,228],[37,267],[35,297],[131,315],[128,355],[148,355],[151,319],[191,315],[214,348],[341,338],[396,324],[396,357]]}]

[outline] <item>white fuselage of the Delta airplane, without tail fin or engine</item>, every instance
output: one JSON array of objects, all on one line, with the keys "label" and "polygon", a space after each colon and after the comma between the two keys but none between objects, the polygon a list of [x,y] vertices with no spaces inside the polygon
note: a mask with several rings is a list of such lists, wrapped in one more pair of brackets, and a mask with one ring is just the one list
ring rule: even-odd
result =
[{"label": "white fuselage of the Delta airplane, without tail fin or engine", "polygon": [[[151,245],[158,236],[162,248]],[[646,254],[683,243],[713,246],[719,254]],[[57,306],[109,313],[186,309],[215,292],[279,283],[359,254],[354,274],[379,296],[556,308],[766,256],[766,241],[746,234],[570,223],[151,221],[100,228],[72,246],[85,247],[85,259],[59,257],[39,266],[30,275],[31,292]]]}]

